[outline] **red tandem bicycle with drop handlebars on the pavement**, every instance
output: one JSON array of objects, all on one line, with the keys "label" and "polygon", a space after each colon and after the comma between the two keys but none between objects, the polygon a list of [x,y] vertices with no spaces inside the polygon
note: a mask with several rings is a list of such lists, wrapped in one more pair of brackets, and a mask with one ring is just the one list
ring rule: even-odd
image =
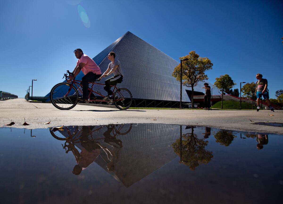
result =
[{"label": "red tandem bicycle with drop handlebars on the pavement", "polygon": [[[64,74],[66,80],[68,78],[67,74],[71,74],[69,70]],[[99,80],[95,80],[99,81]],[[91,84],[91,88],[88,88],[89,95],[88,100],[85,100],[86,103],[90,101],[99,101],[99,102],[107,102],[108,104],[114,103],[115,106],[120,110],[128,109],[132,104],[132,93],[126,88],[118,88],[116,85],[110,85],[114,87],[113,90],[113,101],[102,100],[101,98],[105,98],[106,96],[99,93],[99,91],[94,91],[93,87],[97,85],[105,85],[103,83],[97,83],[95,81],[89,82]],[[50,91],[50,100],[56,108],[60,110],[69,110],[74,108],[78,103],[79,92],[82,94],[82,85],[79,80],[72,79],[70,83],[62,82],[56,84]],[[97,94],[99,96],[94,96],[90,99],[91,94]],[[98,99],[97,99],[98,98]]]}]

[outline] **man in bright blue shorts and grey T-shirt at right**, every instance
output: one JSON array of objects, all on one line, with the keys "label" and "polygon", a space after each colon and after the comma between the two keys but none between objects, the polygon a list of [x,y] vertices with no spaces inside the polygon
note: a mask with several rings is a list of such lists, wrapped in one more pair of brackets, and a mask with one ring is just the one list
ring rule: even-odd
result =
[{"label": "man in bright blue shorts and grey T-shirt at right", "polygon": [[263,98],[266,100],[268,107],[271,111],[274,111],[274,108],[271,106],[271,103],[269,101],[269,93],[267,89],[267,79],[262,78],[262,74],[256,74],[256,103],[258,107],[256,108],[256,111],[260,110],[260,98],[263,96]]}]

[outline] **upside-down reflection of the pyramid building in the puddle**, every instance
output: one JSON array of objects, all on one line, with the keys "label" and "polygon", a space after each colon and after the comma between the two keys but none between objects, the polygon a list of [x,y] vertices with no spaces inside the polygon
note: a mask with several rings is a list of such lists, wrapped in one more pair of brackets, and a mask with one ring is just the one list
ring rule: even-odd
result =
[{"label": "upside-down reflection of the pyramid building in the puddle", "polygon": [[[95,126],[94,129],[98,127],[101,126]],[[124,129],[129,127],[130,124],[124,125]],[[79,127],[80,129],[81,127]],[[107,126],[103,126],[99,131],[93,132],[91,138],[102,138],[106,130]],[[182,126],[182,132],[184,134],[189,130]],[[113,132],[111,134],[113,135]],[[117,139],[122,141],[123,147],[121,155],[114,165],[114,171],[107,170],[106,165],[110,161],[104,151],[100,151],[100,156],[95,162],[117,181],[129,187],[176,158],[177,154],[174,153],[171,145],[179,137],[180,126],[178,125],[133,125],[127,134],[116,136]],[[113,149],[112,146],[104,142],[104,139],[98,139],[98,141],[108,149]],[[76,143],[76,146],[82,149],[80,143]]]}]

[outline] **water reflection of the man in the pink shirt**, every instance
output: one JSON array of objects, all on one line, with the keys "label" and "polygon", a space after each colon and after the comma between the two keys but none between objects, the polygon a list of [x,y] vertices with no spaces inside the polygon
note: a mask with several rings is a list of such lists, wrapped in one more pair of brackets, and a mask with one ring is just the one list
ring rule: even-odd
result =
[{"label": "water reflection of the man in the pink shirt", "polygon": [[[96,143],[88,139],[91,126],[82,126],[82,137],[80,138],[81,145],[83,147],[81,153],[76,149],[73,144],[69,144],[68,148],[72,151],[75,156],[77,165],[74,166],[73,173],[79,175],[83,169],[87,168],[94,160],[98,157],[100,150],[103,149],[107,154],[108,159],[110,158],[110,151],[103,147],[100,143]],[[109,159],[110,160],[110,159]]]}]

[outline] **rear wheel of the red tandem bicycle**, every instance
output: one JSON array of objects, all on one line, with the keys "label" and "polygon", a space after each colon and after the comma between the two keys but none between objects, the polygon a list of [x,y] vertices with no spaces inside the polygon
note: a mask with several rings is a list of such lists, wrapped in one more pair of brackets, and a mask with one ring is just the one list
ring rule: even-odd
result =
[{"label": "rear wheel of the red tandem bicycle", "polygon": [[[120,100],[123,98],[123,100]],[[120,110],[127,110],[132,104],[132,93],[126,88],[117,89],[114,93],[114,104]],[[117,100],[117,101],[116,101]]]}]

